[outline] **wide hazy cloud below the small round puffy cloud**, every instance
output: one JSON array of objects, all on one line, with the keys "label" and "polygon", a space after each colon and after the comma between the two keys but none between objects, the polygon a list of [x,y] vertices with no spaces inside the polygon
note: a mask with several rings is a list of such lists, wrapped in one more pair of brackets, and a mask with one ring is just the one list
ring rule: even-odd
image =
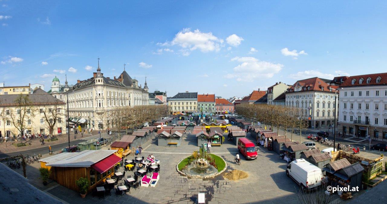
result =
[{"label": "wide hazy cloud below the small round puffy cloud", "polygon": [[227,79],[236,81],[253,81],[255,78],[271,78],[281,71],[284,65],[260,61],[254,57],[234,57],[231,61],[240,62],[240,65],[233,68],[233,74],[224,75]]}]

